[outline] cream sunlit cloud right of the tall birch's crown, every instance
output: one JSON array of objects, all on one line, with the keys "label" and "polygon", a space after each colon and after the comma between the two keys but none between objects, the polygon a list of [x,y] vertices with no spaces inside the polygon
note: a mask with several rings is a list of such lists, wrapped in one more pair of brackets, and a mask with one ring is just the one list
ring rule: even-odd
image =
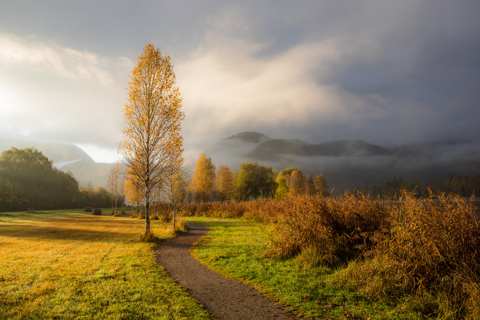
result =
[{"label": "cream sunlit cloud right of the tall birch's crown", "polygon": [[419,113],[408,99],[356,95],[331,81],[352,55],[378,54],[380,46],[371,39],[332,37],[272,56],[261,54],[265,46],[208,33],[188,59],[177,63],[187,113],[184,132],[191,142],[244,130],[310,142],[354,138],[358,132],[368,139],[376,134],[372,123],[396,118],[393,126],[399,129],[412,112],[421,119],[428,109]]}]

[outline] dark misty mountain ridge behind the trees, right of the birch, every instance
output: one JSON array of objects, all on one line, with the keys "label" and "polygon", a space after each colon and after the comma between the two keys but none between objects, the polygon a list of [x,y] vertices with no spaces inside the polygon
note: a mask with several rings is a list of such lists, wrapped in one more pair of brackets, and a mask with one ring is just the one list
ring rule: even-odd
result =
[{"label": "dark misty mountain ridge behind the trees, right of the birch", "polygon": [[311,176],[323,174],[329,185],[339,188],[384,183],[394,176],[437,183],[440,178],[448,181],[451,176],[480,174],[478,142],[445,141],[386,148],[360,139],[312,144],[250,131],[205,145],[202,151],[214,162],[231,168],[250,160],[277,170],[296,167]]}]

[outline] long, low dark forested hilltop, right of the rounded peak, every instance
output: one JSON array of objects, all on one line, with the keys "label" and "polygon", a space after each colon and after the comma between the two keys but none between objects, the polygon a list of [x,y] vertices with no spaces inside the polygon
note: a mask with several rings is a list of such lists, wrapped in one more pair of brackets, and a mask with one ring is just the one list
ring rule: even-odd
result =
[{"label": "long, low dark forested hilltop, right of the rounded peak", "polygon": [[260,160],[276,160],[280,154],[328,155],[328,156],[368,156],[390,155],[393,151],[363,140],[338,140],[319,144],[301,141],[272,139],[255,147],[247,156]]}]

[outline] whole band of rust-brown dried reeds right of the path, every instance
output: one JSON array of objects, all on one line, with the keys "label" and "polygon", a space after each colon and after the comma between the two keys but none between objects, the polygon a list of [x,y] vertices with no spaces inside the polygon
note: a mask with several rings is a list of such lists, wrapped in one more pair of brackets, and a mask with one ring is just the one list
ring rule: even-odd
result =
[{"label": "whole band of rust-brown dried reeds right of the path", "polygon": [[[398,201],[294,196],[185,204],[185,215],[243,217],[271,224],[265,257],[339,267],[338,281],[372,299],[396,299],[445,319],[480,319],[479,212],[451,194]],[[472,196],[473,197],[473,196]],[[409,306],[409,307],[408,307]]]}]

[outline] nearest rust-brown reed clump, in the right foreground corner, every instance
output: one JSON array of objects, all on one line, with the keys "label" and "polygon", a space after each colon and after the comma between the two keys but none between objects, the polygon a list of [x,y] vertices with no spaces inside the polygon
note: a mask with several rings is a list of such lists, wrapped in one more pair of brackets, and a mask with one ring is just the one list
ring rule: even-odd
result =
[{"label": "nearest rust-brown reed clump, in the right foreground corner", "polygon": [[415,308],[480,319],[478,209],[454,193],[429,191],[417,199],[402,190],[389,225],[376,232],[377,245],[365,252],[373,259],[351,263],[348,280],[359,282],[370,297],[413,294],[408,304]]}]

